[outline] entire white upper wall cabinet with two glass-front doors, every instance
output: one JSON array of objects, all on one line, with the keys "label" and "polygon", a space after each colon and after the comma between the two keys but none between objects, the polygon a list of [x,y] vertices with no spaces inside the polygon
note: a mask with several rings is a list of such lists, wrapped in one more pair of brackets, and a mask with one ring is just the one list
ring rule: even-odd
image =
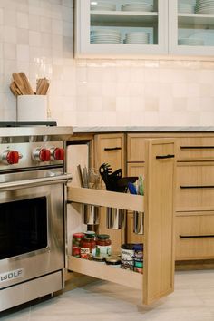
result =
[{"label": "entire white upper wall cabinet with two glass-front doors", "polygon": [[76,0],[75,57],[214,55],[214,0]]}]

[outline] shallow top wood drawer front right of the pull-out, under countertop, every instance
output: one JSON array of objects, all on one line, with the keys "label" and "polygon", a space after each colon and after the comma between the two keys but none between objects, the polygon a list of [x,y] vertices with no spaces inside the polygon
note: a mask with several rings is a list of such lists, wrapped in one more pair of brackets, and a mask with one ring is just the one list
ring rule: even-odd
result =
[{"label": "shallow top wood drawer front right of the pull-out, under countertop", "polygon": [[214,137],[184,137],[177,139],[178,160],[213,160]]}]

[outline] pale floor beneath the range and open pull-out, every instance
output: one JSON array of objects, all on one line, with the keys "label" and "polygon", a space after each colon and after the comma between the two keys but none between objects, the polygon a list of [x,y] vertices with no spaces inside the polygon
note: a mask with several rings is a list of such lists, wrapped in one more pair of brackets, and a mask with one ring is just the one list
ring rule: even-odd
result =
[{"label": "pale floor beneath the range and open pull-out", "polygon": [[141,293],[97,281],[0,314],[15,321],[214,321],[214,270],[176,272],[175,291],[152,306]]}]

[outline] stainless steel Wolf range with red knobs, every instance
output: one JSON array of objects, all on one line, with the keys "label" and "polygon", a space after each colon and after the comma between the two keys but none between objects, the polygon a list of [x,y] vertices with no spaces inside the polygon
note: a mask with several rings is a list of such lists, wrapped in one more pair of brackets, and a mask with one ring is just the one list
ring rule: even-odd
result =
[{"label": "stainless steel Wolf range with red knobs", "polygon": [[63,288],[65,140],[72,128],[0,128],[0,311]]}]

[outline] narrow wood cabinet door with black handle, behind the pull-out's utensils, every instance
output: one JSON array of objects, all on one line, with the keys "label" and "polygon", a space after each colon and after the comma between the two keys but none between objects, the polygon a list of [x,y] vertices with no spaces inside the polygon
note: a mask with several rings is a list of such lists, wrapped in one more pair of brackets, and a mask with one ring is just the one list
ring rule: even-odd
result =
[{"label": "narrow wood cabinet door with black handle, behind the pull-out's utensils", "polygon": [[[125,176],[125,139],[124,134],[98,134],[94,136],[94,164],[99,169],[102,163],[111,165],[112,172],[122,169],[122,176]],[[102,181],[102,189],[105,184]],[[107,229],[106,228],[106,208],[101,209],[101,218],[99,224],[100,234],[109,234],[112,240],[112,252],[120,252],[121,245],[124,240],[123,229]]]}]

